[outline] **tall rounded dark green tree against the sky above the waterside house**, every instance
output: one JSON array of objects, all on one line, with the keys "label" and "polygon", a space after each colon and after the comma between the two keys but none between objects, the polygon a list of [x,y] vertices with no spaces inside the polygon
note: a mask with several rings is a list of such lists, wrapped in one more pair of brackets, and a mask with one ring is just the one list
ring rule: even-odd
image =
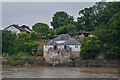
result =
[{"label": "tall rounded dark green tree against the sky above the waterside house", "polygon": [[69,23],[74,23],[73,16],[69,16],[66,12],[60,11],[56,12],[52,17],[51,25],[54,29],[59,28],[60,26],[67,25]]}]

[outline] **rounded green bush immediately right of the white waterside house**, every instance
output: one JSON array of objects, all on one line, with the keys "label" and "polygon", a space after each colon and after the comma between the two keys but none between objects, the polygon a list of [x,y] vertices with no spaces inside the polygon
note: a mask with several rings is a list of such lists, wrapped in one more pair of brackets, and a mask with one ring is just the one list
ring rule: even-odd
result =
[{"label": "rounded green bush immediately right of the white waterside house", "polygon": [[94,59],[100,51],[100,41],[93,37],[83,42],[80,55],[84,60]]}]

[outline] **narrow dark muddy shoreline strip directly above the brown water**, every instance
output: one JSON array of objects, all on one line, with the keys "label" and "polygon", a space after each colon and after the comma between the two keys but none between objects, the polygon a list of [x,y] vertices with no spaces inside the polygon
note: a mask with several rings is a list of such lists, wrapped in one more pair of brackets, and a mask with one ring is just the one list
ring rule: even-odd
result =
[{"label": "narrow dark muddy shoreline strip directly above the brown water", "polygon": [[[9,65],[11,63],[8,61],[2,61],[2,66]],[[14,66],[44,66],[44,67],[112,67],[112,68],[119,68],[120,65],[117,62],[81,62],[81,61],[74,61],[74,64],[71,62],[63,62],[59,64],[53,65],[52,63],[47,63],[45,61],[25,61],[23,65],[14,65]]]}]

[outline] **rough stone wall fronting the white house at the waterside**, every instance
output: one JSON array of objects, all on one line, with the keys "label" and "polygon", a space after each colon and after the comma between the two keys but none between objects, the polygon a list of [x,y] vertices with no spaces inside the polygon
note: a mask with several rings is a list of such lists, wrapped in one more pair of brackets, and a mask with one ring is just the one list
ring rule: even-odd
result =
[{"label": "rough stone wall fronting the white house at the waterside", "polygon": [[58,64],[66,61],[70,61],[72,55],[71,49],[49,49],[47,52],[47,57],[49,57],[50,63]]}]

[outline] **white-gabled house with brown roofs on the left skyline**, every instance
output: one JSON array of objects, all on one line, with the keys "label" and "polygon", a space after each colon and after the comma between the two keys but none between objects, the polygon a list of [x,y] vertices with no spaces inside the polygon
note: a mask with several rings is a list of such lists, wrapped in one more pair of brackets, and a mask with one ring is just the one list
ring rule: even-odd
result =
[{"label": "white-gabled house with brown roofs on the left skyline", "polygon": [[29,34],[32,30],[26,26],[26,25],[22,25],[21,27],[18,25],[10,25],[8,27],[6,27],[4,30],[8,30],[11,32],[16,33],[17,35],[20,34],[21,32],[26,32],[27,34]]}]

